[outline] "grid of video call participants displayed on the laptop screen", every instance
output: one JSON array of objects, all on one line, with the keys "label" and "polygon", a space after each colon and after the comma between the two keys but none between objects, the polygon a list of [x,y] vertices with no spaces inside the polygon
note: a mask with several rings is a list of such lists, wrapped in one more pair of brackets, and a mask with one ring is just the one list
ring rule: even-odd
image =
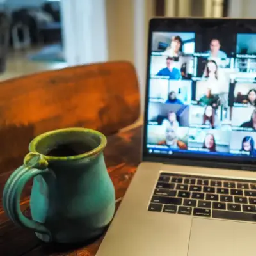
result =
[{"label": "grid of video call participants displayed on the laptop screen", "polygon": [[[148,106],[148,128],[153,126],[153,133],[157,133],[156,125],[164,127],[164,129],[158,129],[158,135],[162,136],[163,140],[153,140],[152,145],[166,146],[166,138],[172,138],[173,132],[180,133],[180,130],[183,130],[181,136],[188,137],[187,143],[180,146],[180,141],[177,140],[174,146],[168,145],[168,147],[162,148],[254,156],[256,126],[253,124],[253,119],[256,123],[254,111],[256,73],[253,73],[256,70],[254,70],[253,58],[256,57],[256,52],[252,51],[252,47],[248,47],[248,51],[244,51],[240,42],[243,36],[240,34],[237,35],[239,44],[236,45],[236,51],[231,49],[227,53],[221,50],[218,38],[210,40],[208,51],[196,53],[196,45],[191,40],[195,39],[195,33],[158,34],[161,36],[168,34],[170,42],[166,45],[163,42],[158,42],[159,51],[157,52],[154,49],[154,47],[156,48],[156,42],[154,42],[156,37],[153,36],[149,90],[152,93],[150,93]],[[180,51],[182,35],[187,36],[189,44],[185,45],[183,52]],[[252,34],[250,35],[252,36]],[[248,37],[247,34],[246,36]],[[164,49],[164,47],[166,48]],[[234,52],[236,52],[237,58],[230,58],[232,55],[234,56]],[[173,65],[172,70],[175,70],[173,74],[169,74],[164,67],[159,68],[163,61],[166,61],[167,69]],[[157,68],[159,71],[154,72]],[[157,84],[161,84],[161,86]],[[154,88],[155,86],[159,92]],[[182,99],[179,99],[179,96]],[[154,111],[150,110],[153,108],[150,108],[150,105],[157,102],[160,112],[150,120],[150,116],[152,116],[150,112]],[[162,115],[163,111],[165,111],[164,115]],[[241,115],[242,113],[243,115]],[[248,116],[248,120],[246,120],[246,116]],[[172,122],[173,125],[169,124],[169,126],[173,126],[172,129],[168,127],[168,122]],[[205,131],[207,131],[206,134]],[[202,134],[205,134],[204,140],[201,138]],[[223,134],[226,138],[225,143],[218,143],[223,141],[221,140]],[[175,135],[177,137],[177,134]],[[232,143],[232,141],[238,141],[237,138],[241,135],[243,138],[238,147],[237,143]],[[148,144],[151,142],[150,136],[152,134],[148,129]],[[156,134],[154,136],[157,137]]]}]

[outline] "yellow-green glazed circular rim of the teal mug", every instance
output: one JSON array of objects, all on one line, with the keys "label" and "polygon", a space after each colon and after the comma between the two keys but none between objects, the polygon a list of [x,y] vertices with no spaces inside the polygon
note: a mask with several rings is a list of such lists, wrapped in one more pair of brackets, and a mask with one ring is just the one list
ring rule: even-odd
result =
[{"label": "yellow-green glazed circular rim of the teal mug", "polygon": [[[44,155],[44,154],[36,151],[36,146],[38,145],[39,141],[43,140],[44,138],[46,138],[49,135],[56,134],[58,132],[66,132],[66,131],[67,132],[78,131],[78,132],[90,132],[90,133],[93,133],[94,135],[99,136],[99,138],[100,138],[100,145],[98,147],[96,147],[96,148],[93,148],[93,150],[90,150],[88,152],[85,152],[83,154],[79,154],[79,155],[76,155],[76,156],[47,156],[47,155]],[[83,159],[84,157],[95,156],[95,155],[99,154],[102,150],[104,150],[106,145],[107,145],[107,138],[101,132],[95,131],[93,129],[82,128],[82,127],[70,127],[70,128],[56,129],[56,130],[52,130],[52,131],[49,131],[49,132],[44,132],[44,133],[36,136],[29,143],[29,151],[31,153],[37,153],[37,154],[42,155],[45,160],[49,160],[49,161],[68,161],[68,160]]]}]

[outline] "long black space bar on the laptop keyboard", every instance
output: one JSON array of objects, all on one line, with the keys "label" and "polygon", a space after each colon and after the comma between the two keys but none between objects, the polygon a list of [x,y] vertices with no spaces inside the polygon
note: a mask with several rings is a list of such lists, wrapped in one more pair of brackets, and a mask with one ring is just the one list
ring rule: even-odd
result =
[{"label": "long black space bar on the laptop keyboard", "polygon": [[232,212],[212,210],[212,218],[225,220],[256,221],[256,214],[248,212]]}]

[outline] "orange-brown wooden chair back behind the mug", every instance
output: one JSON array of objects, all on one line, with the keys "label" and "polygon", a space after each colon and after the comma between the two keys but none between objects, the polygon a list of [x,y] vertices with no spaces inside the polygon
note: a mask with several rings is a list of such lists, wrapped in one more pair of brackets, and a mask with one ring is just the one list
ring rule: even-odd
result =
[{"label": "orange-brown wooden chair back behind the mug", "polygon": [[29,141],[42,132],[88,127],[110,135],[139,115],[138,79],[131,63],[124,61],[4,81],[0,83],[0,166],[26,154]]}]

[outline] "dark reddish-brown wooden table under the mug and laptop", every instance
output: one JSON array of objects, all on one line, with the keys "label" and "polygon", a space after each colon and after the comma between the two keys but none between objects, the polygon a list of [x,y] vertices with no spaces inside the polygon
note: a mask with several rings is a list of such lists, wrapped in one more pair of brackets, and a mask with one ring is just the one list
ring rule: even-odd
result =
[{"label": "dark reddish-brown wooden table under the mug and laptop", "polygon": [[[140,163],[141,156],[141,127],[129,131],[120,132],[108,137],[108,146],[104,152],[109,175],[113,181],[116,191],[116,208],[118,207],[124,193],[131,182],[136,166]],[[18,167],[22,159],[10,158],[6,163],[6,170],[0,174],[0,189],[3,187],[13,171]],[[0,166],[3,168],[4,166]],[[24,196],[20,201],[20,207],[24,214],[29,217],[29,189],[25,188]],[[84,230],[86,232],[86,230]],[[92,256],[95,255],[104,236],[88,244],[76,246],[65,246],[59,244],[45,244],[40,242],[33,231],[17,227],[8,220],[1,199],[0,204],[0,255],[3,256],[41,256],[41,255],[70,255],[70,256]]]}]

